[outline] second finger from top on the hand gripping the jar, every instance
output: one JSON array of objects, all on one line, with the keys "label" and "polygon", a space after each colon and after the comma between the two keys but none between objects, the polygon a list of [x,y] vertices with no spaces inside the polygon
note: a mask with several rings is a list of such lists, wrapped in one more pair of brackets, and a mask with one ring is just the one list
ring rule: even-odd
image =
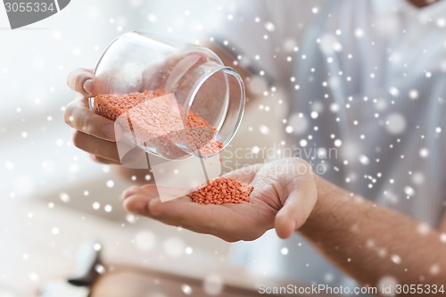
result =
[{"label": "second finger from top on the hand gripping the jar", "polygon": [[86,106],[85,98],[78,98],[67,105],[64,120],[78,131],[108,141],[116,141],[119,133],[114,121],[95,114]]}]

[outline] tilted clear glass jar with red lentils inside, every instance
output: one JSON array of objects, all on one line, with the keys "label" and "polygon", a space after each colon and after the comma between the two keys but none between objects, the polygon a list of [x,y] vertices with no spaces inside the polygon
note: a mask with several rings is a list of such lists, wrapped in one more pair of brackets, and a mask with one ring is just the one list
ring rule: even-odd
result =
[{"label": "tilted clear glass jar with red lentils inside", "polygon": [[[126,147],[168,160],[210,157],[242,120],[242,78],[202,45],[129,32],[105,49],[94,73],[90,108],[115,120]],[[121,161],[128,151],[120,150]]]}]

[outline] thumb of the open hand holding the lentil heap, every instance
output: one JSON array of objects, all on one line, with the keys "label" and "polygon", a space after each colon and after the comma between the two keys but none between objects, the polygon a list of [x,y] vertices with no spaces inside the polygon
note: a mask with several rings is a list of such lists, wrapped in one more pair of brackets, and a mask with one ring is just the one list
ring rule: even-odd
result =
[{"label": "thumb of the open hand holding the lentil heap", "polygon": [[295,185],[276,215],[274,226],[280,238],[288,238],[305,223],[314,209],[317,197],[314,177],[302,178],[299,184]]}]

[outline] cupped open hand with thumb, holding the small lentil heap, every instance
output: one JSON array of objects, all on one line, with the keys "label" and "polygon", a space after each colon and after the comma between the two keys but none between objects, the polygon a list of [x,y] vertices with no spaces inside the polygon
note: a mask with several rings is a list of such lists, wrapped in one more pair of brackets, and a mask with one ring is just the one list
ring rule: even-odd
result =
[{"label": "cupped open hand with thumb, holding the small lentil heap", "polygon": [[202,205],[187,197],[161,202],[155,185],[130,187],[123,193],[126,210],[216,235],[228,242],[254,240],[268,229],[289,237],[310,216],[318,190],[310,165],[299,158],[287,158],[238,169],[227,177],[254,186],[250,202]]}]

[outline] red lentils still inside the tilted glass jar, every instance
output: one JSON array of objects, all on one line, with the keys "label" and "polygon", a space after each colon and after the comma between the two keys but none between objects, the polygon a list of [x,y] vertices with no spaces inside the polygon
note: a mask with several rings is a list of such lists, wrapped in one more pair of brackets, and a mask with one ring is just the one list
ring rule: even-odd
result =
[{"label": "red lentils still inside the tilted glass jar", "polygon": [[[136,144],[153,146],[157,151],[177,158],[184,154],[176,145],[186,142],[183,123],[172,119],[169,101],[147,103],[147,100],[162,95],[166,95],[162,89],[124,95],[96,95],[94,108],[97,114],[110,120],[118,120],[120,115],[126,114],[126,122],[121,124],[129,125],[130,130],[136,132]],[[138,108],[134,108],[136,105]],[[178,108],[182,110],[182,106]],[[186,137],[192,149],[202,155],[219,153],[223,144],[214,136],[215,128],[199,114],[189,111],[186,117]]]}]

